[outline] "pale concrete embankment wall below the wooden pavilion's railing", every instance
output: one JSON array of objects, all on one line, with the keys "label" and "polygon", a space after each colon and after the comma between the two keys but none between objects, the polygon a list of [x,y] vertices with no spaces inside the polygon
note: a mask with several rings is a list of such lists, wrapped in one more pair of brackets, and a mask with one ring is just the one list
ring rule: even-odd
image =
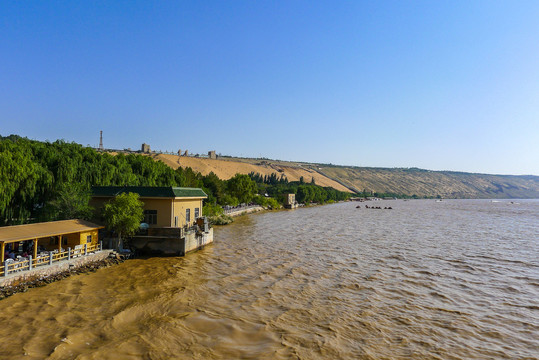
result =
[{"label": "pale concrete embankment wall below the wooden pavilion's railing", "polygon": [[11,273],[6,277],[0,278],[0,286],[10,286],[21,282],[27,282],[34,279],[56,275],[70,269],[77,269],[81,266],[106,259],[109,257],[111,252],[112,250],[102,250],[96,252],[95,254],[89,254],[71,260],[55,262],[52,265],[44,265],[32,270]]}]

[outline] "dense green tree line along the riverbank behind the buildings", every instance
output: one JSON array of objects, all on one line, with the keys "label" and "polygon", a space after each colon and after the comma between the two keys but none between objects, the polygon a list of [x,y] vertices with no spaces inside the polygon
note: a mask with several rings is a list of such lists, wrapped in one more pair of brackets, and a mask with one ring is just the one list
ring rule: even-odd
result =
[{"label": "dense green tree line along the riverbank behind the buildings", "polygon": [[236,174],[221,180],[214,173],[172,169],[139,154],[113,155],[63,140],[0,137],[0,225],[90,218],[92,186],[199,187],[208,194],[206,213],[249,202],[278,207],[285,193],[296,194],[300,203],[338,201],[350,195],[314,181],[288,182],[284,175]]}]

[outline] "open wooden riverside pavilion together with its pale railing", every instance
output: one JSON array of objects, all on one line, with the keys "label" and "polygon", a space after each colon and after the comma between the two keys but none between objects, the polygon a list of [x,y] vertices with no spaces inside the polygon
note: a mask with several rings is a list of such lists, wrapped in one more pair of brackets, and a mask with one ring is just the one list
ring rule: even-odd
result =
[{"label": "open wooden riverside pavilion together with its pale railing", "polygon": [[0,228],[0,276],[52,265],[102,250],[98,230],[84,220]]}]

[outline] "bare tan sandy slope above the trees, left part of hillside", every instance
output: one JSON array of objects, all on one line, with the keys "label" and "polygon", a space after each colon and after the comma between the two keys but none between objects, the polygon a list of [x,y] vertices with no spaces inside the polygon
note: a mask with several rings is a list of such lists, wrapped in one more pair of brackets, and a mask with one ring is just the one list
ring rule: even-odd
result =
[{"label": "bare tan sandy slope above the trees, left part of hillside", "polygon": [[319,174],[310,169],[304,169],[300,166],[284,166],[282,164],[275,164],[271,162],[247,163],[233,160],[212,160],[206,158],[195,158],[178,155],[157,154],[152,156],[156,160],[161,160],[168,166],[176,169],[181,167],[190,167],[194,171],[200,172],[204,175],[214,172],[220,179],[227,180],[236,175],[249,174],[250,172],[259,173],[262,175],[271,175],[276,173],[280,175],[282,173],[288,178],[288,181],[298,181],[301,176],[305,179],[305,182],[310,182],[314,177],[314,181],[320,186],[330,186],[340,191],[350,192],[346,187],[342,186],[336,181],[333,181],[322,174]]}]

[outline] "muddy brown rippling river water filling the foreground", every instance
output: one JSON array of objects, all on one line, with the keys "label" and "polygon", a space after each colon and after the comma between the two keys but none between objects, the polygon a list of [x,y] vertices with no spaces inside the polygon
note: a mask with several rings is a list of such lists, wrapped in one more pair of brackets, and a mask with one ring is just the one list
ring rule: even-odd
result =
[{"label": "muddy brown rippling river water filling the foreground", "polygon": [[539,201],[248,215],[0,301],[5,359],[537,359]]}]

